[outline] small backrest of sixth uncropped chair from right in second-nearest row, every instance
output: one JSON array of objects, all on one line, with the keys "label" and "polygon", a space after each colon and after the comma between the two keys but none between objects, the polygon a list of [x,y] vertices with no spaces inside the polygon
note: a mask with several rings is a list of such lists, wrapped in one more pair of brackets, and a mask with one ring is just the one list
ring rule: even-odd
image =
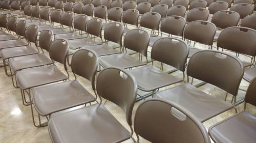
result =
[{"label": "small backrest of sixth uncropped chair from right in second-nearest row", "polygon": [[84,31],[86,32],[86,24],[88,21],[88,16],[85,14],[79,14],[74,17],[74,28],[76,30]]}]

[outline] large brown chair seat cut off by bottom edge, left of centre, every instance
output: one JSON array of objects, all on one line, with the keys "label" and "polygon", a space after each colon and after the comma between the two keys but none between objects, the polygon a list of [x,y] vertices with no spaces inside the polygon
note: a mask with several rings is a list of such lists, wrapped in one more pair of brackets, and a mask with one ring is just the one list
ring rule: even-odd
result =
[{"label": "large brown chair seat cut off by bottom edge, left of centre", "polygon": [[121,142],[130,138],[125,129],[102,104],[53,116],[48,123],[53,142]]}]

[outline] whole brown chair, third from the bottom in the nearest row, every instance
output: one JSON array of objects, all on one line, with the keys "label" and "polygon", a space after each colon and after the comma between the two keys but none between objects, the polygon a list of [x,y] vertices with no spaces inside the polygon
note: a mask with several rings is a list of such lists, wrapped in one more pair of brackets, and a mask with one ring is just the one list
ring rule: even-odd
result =
[{"label": "whole brown chair, third from the bottom in the nearest row", "polygon": [[[40,116],[50,116],[54,112],[96,101],[95,75],[98,67],[98,56],[93,50],[81,49],[72,57],[71,69],[74,80],[37,88],[32,92],[32,101]],[[91,81],[96,98],[90,94],[76,79],[79,75]],[[56,93],[55,91],[58,91]],[[49,101],[49,99],[51,99]],[[39,120],[40,121],[40,120]],[[39,127],[44,126],[39,122]]]}]

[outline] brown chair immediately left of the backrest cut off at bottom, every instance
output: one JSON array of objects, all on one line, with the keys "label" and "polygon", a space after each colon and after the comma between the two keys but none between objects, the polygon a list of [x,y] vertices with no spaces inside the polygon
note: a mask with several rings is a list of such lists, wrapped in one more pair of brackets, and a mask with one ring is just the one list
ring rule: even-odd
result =
[{"label": "brown chair immediately left of the backrest cut off at bottom", "polygon": [[115,103],[124,111],[131,132],[100,101],[52,116],[48,124],[52,142],[122,142],[133,139],[132,110],[137,94],[135,78],[124,69],[107,68],[99,73],[97,79],[96,93],[99,98]]}]

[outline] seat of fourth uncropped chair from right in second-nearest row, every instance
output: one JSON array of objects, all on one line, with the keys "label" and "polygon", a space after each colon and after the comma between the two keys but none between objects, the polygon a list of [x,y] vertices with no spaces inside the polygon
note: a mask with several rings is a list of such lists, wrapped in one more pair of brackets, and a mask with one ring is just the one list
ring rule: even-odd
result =
[{"label": "seat of fourth uncropped chair from right in second-nearest row", "polygon": [[98,56],[121,53],[121,51],[115,50],[112,47],[105,44],[86,46],[82,48],[92,49],[98,54]]}]

